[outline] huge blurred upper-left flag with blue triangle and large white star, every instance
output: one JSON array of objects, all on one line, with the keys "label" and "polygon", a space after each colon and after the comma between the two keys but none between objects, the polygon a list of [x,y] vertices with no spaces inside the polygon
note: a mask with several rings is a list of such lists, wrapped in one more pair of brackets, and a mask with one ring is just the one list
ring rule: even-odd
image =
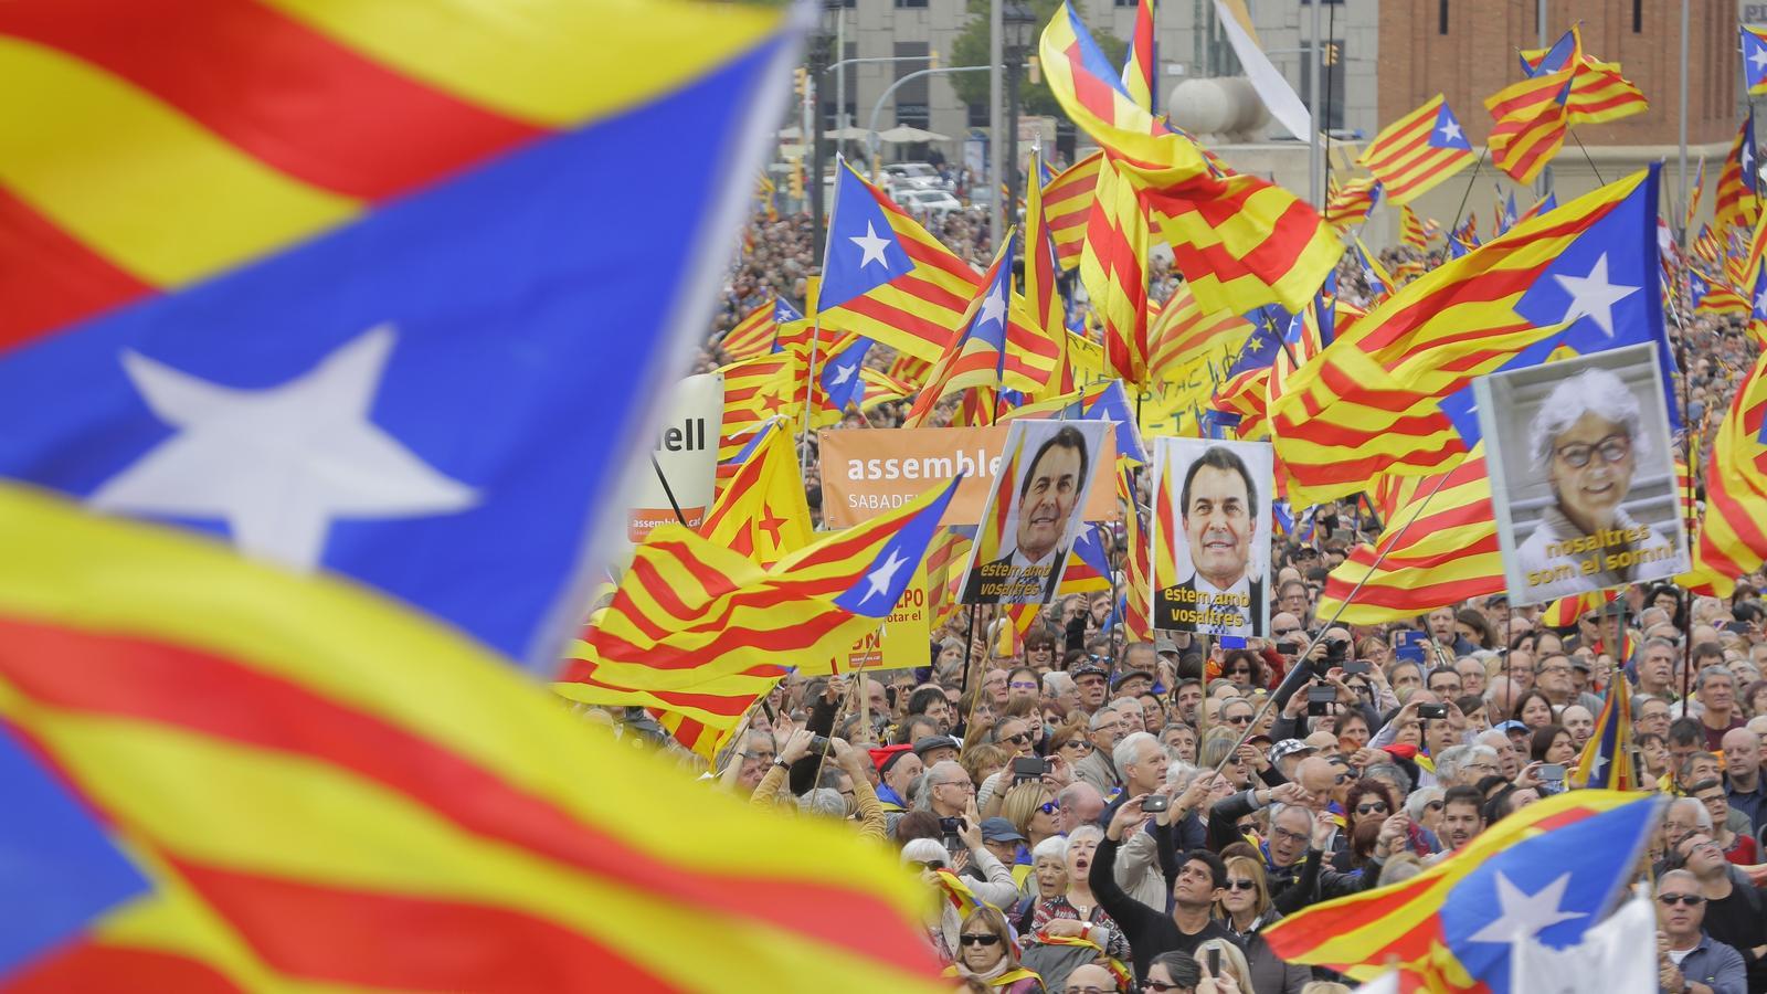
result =
[{"label": "huge blurred upper-left flag with blue triangle and large white star", "polygon": [[0,479],[555,665],[705,327],[779,14],[106,11],[0,11],[0,87],[53,94],[0,156]]}]

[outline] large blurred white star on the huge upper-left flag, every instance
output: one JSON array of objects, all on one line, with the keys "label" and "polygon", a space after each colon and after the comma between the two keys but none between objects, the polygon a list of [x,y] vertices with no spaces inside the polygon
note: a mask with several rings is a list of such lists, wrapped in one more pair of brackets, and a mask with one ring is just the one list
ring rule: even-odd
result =
[{"label": "large blurred white star on the huge upper-left flag", "polygon": [[102,511],[221,518],[247,555],[318,568],[332,518],[461,511],[477,493],[442,476],[369,421],[394,343],[378,325],[311,371],[233,389],[138,352],[122,364],[141,398],[178,428],[92,495]]}]

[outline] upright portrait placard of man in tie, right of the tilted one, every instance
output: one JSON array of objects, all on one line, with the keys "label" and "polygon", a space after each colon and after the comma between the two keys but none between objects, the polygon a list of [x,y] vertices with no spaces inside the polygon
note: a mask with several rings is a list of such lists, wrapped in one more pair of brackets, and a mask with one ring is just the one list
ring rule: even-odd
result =
[{"label": "upright portrait placard of man in tie, right of the tilted one", "polygon": [[1154,628],[1269,631],[1272,467],[1269,442],[1156,442]]}]

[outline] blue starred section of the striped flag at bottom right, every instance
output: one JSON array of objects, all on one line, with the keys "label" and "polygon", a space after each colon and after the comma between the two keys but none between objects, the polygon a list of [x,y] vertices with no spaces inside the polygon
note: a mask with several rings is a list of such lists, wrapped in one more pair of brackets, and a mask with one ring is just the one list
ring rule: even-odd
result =
[{"label": "blue starred section of the striped flag at bottom right", "polygon": [[1576,944],[1619,904],[1657,814],[1659,799],[1647,798],[1491,853],[1442,902],[1449,952],[1493,994],[1507,994],[1516,943]]}]

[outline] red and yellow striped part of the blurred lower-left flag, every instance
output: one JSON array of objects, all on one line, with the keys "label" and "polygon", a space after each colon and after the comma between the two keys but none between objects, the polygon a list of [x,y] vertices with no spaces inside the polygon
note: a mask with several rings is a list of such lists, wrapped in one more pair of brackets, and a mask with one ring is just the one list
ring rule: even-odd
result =
[{"label": "red and yellow striped part of the blurred lower-left flag", "polygon": [[[150,888],[19,989],[929,976],[891,860],[615,745],[456,631],[161,527],[11,488],[0,508],[0,723]],[[696,830],[659,831],[663,808]],[[656,946],[657,907],[691,964]]]}]

